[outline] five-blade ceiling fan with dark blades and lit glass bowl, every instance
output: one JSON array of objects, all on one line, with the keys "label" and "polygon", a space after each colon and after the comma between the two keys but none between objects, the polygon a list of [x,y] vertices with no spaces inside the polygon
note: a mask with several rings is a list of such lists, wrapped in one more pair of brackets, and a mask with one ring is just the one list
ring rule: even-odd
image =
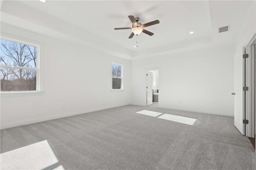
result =
[{"label": "five-blade ceiling fan with dark blades and lit glass bowl", "polygon": [[144,32],[145,34],[148,34],[149,36],[153,36],[154,33],[152,32],[149,32],[143,28],[145,27],[148,27],[148,26],[152,26],[152,25],[155,25],[155,24],[159,24],[159,20],[154,20],[152,22],[148,22],[146,24],[141,24],[139,22],[140,18],[136,17],[134,18],[134,16],[130,15],[128,16],[129,19],[131,20],[132,22],[132,27],[128,27],[128,28],[114,28],[114,30],[128,30],[128,29],[132,29],[132,34],[129,36],[129,38],[132,38],[134,35],[139,35],[141,32]]}]

